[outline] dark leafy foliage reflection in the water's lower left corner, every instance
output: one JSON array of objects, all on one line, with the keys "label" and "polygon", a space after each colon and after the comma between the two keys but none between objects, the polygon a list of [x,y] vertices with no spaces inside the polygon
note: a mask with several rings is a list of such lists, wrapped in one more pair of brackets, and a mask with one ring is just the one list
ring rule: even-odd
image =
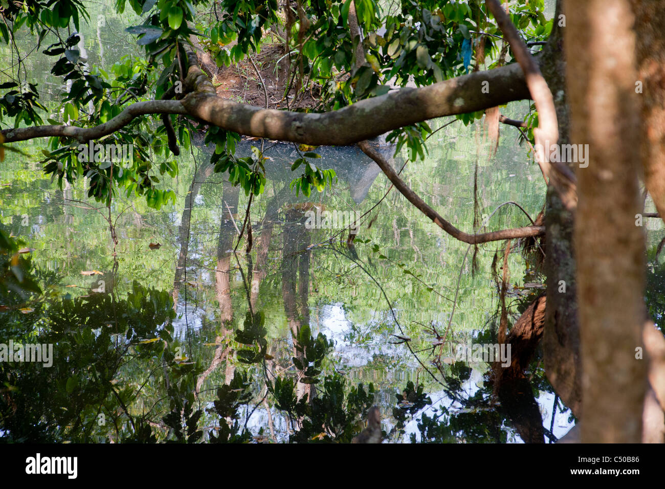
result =
[{"label": "dark leafy foliage reflection in the water's lower left corner", "polygon": [[[136,389],[120,384],[118,377],[124,377],[134,361],[161,365],[159,358],[172,331],[168,324],[174,315],[172,302],[168,293],[137,283],[128,300],[114,305],[110,301],[106,294],[52,301],[39,329],[35,313],[3,313],[3,337],[15,343],[53,345],[51,367],[35,362],[0,364],[5,436],[15,441],[90,442],[112,436],[112,427],[117,440],[154,438],[146,424],[148,414],[130,412]],[[141,342],[139,335],[158,335],[164,341]],[[126,423],[132,428],[126,430]]]}]

